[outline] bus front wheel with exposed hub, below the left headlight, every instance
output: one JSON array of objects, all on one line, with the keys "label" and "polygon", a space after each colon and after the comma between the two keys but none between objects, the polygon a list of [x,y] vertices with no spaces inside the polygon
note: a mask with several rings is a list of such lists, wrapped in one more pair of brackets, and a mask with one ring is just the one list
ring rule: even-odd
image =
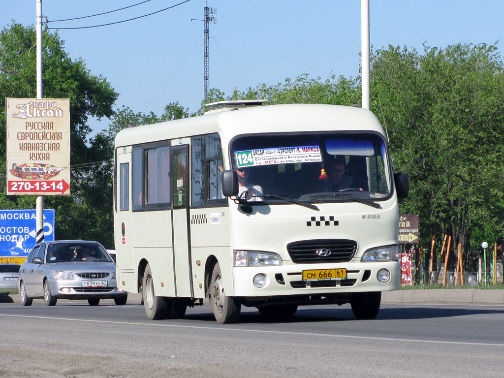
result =
[{"label": "bus front wheel with exposed hub, below the left headlight", "polygon": [[214,266],[209,291],[210,308],[214,311],[215,320],[220,324],[238,322],[241,304],[225,294],[219,263]]}]

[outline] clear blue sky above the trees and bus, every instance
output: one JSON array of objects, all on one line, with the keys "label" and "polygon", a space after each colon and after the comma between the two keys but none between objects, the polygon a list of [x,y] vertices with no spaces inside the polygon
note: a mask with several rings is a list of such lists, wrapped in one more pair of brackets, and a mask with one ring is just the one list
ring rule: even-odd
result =
[{"label": "clear blue sky above the trees and bus", "polygon": [[[89,16],[142,0],[43,0],[51,20]],[[81,27],[126,20],[180,3],[151,0],[107,15],[49,27]],[[504,1],[370,0],[370,43],[374,49],[422,43],[445,47],[458,42],[492,44],[504,36]],[[355,77],[360,65],[359,0],[214,0],[216,24],[210,25],[209,88],[231,94],[265,83],[309,74]],[[114,108],[161,114],[178,101],[191,112],[203,98],[204,0],[111,26],[59,30],[65,49],[82,57],[94,75],[106,77],[120,93]],[[35,24],[35,0],[0,0],[0,25],[15,20]],[[498,44],[502,51],[504,41]],[[90,120],[103,129],[108,120]]]}]

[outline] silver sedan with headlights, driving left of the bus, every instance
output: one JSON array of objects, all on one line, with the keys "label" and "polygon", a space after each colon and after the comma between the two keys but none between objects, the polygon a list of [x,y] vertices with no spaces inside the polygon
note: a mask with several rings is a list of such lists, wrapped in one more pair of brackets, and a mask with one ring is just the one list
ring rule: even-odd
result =
[{"label": "silver sedan with headlights, driving left of the bus", "polygon": [[96,241],[43,241],[31,251],[19,270],[23,306],[43,298],[47,306],[58,299],[87,299],[92,306],[113,298],[126,304],[128,293],[117,289],[115,263]]}]

